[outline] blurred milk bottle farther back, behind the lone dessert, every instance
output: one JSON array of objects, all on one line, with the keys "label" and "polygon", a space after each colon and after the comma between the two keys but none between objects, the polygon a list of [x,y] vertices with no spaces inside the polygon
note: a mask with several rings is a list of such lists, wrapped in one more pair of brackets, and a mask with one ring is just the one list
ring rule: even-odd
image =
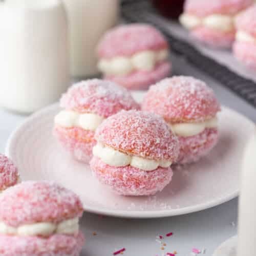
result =
[{"label": "blurred milk bottle farther back, behind the lone dessert", "polygon": [[95,47],[102,34],[116,24],[118,0],[63,0],[70,28],[71,73],[88,77],[98,73]]}]

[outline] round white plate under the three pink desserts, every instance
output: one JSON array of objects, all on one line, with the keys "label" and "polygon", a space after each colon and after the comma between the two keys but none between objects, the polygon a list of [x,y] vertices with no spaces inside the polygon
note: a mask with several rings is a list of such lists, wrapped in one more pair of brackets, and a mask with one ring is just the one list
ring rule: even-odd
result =
[{"label": "round white plate under the three pink desserts", "polygon": [[[142,94],[135,94],[137,100]],[[54,104],[29,117],[9,139],[6,154],[23,180],[54,180],[73,189],[84,209],[102,215],[154,218],[188,214],[224,203],[238,195],[240,161],[254,124],[223,107],[220,140],[211,154],[175,171],[173,181],[151,197],[123,197],[92,177],[90,166],[73,160],[52,136]]]}]

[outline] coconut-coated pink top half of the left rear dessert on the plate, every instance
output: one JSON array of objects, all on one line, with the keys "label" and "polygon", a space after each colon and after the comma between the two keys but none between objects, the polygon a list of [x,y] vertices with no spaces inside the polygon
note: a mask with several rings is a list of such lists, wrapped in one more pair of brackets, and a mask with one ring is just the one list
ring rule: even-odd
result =
[{"label": "coconut-coated pink top half of the left rear dessert on the plate", "polygon": [[116,83],[90,79],[74,84],[60,99],[61,108],[109,117],[120,110],[139,109],[131,93]]}]

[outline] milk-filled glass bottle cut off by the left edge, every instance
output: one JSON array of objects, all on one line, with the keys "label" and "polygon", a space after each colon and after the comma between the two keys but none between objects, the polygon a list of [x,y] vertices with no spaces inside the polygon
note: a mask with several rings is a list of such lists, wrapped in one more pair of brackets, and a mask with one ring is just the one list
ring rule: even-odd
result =
[{"label": "milk-filled glass bottle cut off by the left edge", "polygon": [[68,25],[60,0],[0,2],[0,105],[31,113],[70,84]]}]

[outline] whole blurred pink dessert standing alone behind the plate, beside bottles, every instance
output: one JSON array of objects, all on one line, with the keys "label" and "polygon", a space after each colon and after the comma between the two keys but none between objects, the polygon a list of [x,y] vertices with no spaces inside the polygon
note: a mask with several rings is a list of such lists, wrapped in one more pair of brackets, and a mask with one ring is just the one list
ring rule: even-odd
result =
[{"label": "whole blurred pink dessert standing alone behind the plate, beside bottles", "polygon": [[131,90],[147,89],[172,68],[167,41],[150,25],[121,25],[106,32],[97,53],[104,78]]}]

